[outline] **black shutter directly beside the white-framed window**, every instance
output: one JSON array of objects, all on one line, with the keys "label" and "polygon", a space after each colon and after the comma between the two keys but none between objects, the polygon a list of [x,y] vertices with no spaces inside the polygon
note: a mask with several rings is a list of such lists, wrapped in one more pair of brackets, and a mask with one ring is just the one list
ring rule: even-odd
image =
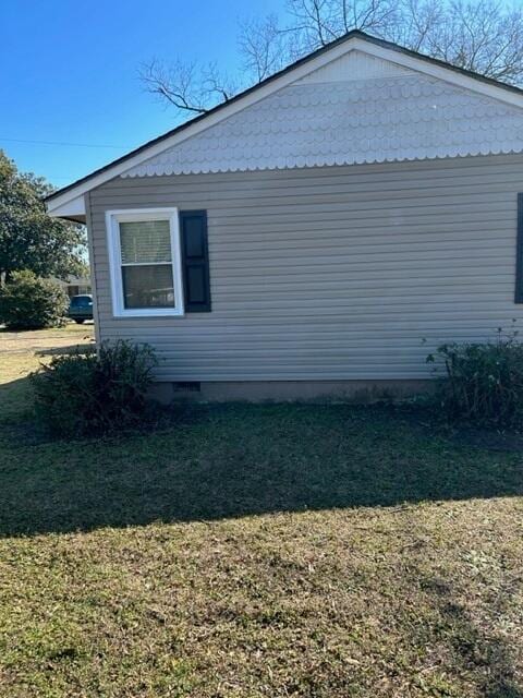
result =
[{"label": "black shutter directly beside the white-framed window", "polygon": [[210,311],[207,212],[181,210],[183,293],[186,313]]}]

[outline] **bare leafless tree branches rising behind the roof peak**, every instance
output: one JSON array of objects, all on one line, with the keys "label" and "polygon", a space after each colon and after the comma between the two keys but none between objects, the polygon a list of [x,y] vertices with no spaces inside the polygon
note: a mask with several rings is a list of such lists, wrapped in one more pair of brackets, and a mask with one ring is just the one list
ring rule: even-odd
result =
[{"label": "bare leafless tree branches rising behind the roof peak", "polygon": [[287,0],[275,14],[239,27],[243,70],[233,82],[215,63],[153,60],[141,69],[145,88],[179,116],[203,113],[248,85],[351,29],[510,84],[523,83],[523,10],[501,0]]}]

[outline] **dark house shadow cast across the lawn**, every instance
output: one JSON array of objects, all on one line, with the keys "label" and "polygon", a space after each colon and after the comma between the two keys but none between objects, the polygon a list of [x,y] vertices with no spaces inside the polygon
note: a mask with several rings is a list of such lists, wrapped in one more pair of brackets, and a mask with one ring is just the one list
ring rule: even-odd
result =
[{"label": "dark house shadow cast across the lawn", "polygon": [[71,442],[31,429],[0,424],[3,535],[523,494],[520,454],[457,444],[391,408],[198,407],[148,433]]}]

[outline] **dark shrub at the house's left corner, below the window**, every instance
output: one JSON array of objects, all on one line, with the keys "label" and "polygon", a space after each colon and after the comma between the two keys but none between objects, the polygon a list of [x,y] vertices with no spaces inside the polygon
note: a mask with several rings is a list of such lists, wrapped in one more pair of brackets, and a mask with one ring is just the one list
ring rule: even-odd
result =
[{"label": "dark shrub at the house's left corner, below the window", "polygon": [[[85,350],[84,350],[85,351]],[[31,375],[37,418],[62,436],[99,434],[138,423],[156,365],[148,345],[104,344],[97,353],[54,357]]]}]

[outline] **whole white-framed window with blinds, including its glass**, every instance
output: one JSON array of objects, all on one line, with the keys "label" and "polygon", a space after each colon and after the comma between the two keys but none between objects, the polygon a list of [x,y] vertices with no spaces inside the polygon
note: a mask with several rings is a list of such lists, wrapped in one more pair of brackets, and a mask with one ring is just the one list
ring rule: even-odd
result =
[{"label": "whole white-framed window with blinds, including its glass", "polygon": [[108,210],[113,313],[183,315],[177,208]]}]

